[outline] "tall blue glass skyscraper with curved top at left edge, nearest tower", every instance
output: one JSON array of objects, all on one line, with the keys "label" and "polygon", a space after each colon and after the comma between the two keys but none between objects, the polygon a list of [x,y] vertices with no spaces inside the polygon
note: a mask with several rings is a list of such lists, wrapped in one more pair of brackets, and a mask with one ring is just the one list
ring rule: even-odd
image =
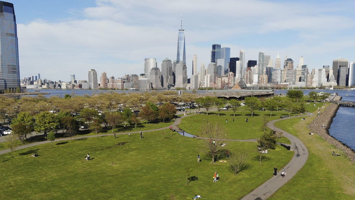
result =
[{"label": "tall blue glass skyscraper with curved top at left edge, nearest tower", "polygon": [[0,90],[20,88],[15,9],[5,1],[0,1],[0,36]]}]

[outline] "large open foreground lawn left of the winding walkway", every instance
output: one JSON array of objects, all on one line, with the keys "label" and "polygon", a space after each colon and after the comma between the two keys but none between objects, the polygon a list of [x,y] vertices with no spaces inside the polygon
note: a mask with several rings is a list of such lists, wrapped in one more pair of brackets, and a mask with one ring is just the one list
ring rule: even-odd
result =
[{"label": "large open foreground lawn left of the winding walkway", "polygon": [[[173,134],[173,135],[171,135]],[[227,163],[211,164],[201,150],[202,140],[170,130],[146,132],[140,139],[105,136],[60,141],[0,155],[3,185],[0,199],[240,199],[272,176],[275,165],[282,168],[293,156],[278,146],[271,158],[259,161],[254,142],[230,142],[231,153],[249,152],[251,167],[233,175]],[[123,145],[120,145],[123,144]],[[31,157],[38,153],[39,157]],[[90,153],[92,160],[85,161]],[[197,163],[197,154],[202,162]],[[228,159],[226,159],[228,160]],[[198,180],[186,185],[184,168]],[[217,171],[220,181],[213,183]]]}]

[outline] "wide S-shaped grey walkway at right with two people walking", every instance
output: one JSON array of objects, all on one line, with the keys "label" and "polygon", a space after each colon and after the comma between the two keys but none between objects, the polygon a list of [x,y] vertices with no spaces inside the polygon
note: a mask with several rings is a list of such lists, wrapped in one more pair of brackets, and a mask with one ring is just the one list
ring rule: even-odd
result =
[{"label": "wide S-shaped grey walkway at right with two people walking", "polygon": [[[307,115],[299,116],[300,120],[302,119],[303,116],[307,116]],[[303,167],[303,165],[306,163],[308,158],[308,150],[307,147],[303,144],[303,142],[297,137],[291,135],[290,133],[274,126],[275,122],[280,120],[290,119],[290,118],[294,118],[294,117],[287,117],[283,119],[269,121],[267,123],[267,126],[271,129],[275,129],[277,132],[282,132],[283,136],[287,137],[291,141],[291,148],[295,151],[293,158],[285,167],[278,168],[279,174],[276,177],[272,176],[265,183],[263,183],[258,188],[253,190],[251,193],[244,196],[242,200],[267,199],[273,193],[275,193],[279,188],[281,188],[281,186],[283,186],[287,181],[289,181],[298,172],[298,170],[300,170]],[[280,171],[282,170],[282,168],[285,168],[287,172],[285,178],[281,177]],[[270,172],[272,170],[273,169],[270,169]]]}]

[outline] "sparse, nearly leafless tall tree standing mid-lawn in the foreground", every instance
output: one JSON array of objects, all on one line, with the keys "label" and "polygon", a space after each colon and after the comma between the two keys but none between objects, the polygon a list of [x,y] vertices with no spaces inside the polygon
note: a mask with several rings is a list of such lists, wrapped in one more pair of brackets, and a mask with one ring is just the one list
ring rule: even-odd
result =
[{"label": "sparse, nearly leafless tall tree standing mid-lawn in the foreground", "polygon": [[216,122],[203,123],[201,137],[205,139],[203,144],[205,152],[212,157],[212,163],[214,164],[225,152],[220,145],[223,144],[226,137],[223,126]]}]

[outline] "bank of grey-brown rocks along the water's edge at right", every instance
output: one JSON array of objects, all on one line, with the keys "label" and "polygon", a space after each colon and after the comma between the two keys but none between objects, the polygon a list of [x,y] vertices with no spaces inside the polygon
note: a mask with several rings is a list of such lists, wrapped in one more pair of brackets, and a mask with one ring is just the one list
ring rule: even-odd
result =
[{"label": "bank of grey-brown rocks along the water's edge at right", "polygon": [[[337,96],[336,98],[340,97]],[[321,116],[316,117],[309,125],[308,129],[311,130],[313,133],[318,134],[324,140],[328,141],[330,144],[333,144],[336,148],[342,149],[344,154],[351,159],[352,162],[355,162],[355,152],[353,149],[346,146],[344,143],[335,140],[332,136],[329,135],[328,128],[330,127],[333,117],[337,113],[339,105],[337,104],[330,104],[326,107],[326,109],[322,112]],[[322,125],[326,125],[325,128],[321,128]],[[329,152],[331,153],[331,152]]]}]

